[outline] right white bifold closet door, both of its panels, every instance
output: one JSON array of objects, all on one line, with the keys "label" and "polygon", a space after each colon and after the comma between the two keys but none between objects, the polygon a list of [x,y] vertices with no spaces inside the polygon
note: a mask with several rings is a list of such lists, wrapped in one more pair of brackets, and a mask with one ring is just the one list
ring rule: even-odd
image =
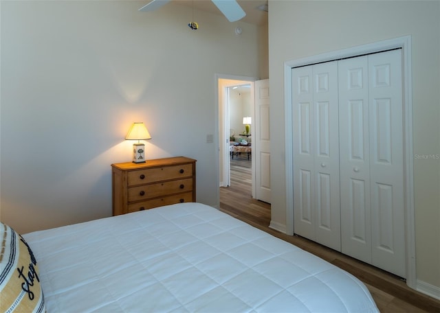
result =
[{"label": "right white bifold closet door, both of its panels", "polygon": [[401,50],[339,62],[342,253],[406,276]]}]

